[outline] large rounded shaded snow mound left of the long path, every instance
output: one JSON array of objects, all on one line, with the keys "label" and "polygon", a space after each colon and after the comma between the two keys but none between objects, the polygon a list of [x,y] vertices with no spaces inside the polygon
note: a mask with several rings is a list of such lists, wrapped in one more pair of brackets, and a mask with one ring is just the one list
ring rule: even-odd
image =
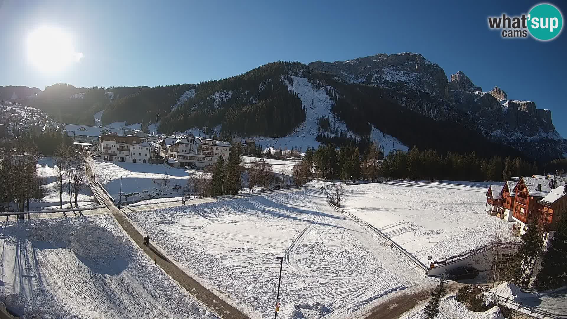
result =
[{"label": "large rounded shaded snow mound left of the long path", "polygon": [[96,224],[85,224],[70,234],[71,249],[91,261],[109,262],[121,254],[126,238]]}]

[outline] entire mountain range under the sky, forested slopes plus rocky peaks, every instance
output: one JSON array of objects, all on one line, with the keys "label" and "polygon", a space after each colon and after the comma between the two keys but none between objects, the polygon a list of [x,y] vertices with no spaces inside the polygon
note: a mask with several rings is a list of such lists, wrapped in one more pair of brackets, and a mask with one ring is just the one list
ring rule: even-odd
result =
[{"label": "entire mountain range under the sky, forested slopes plus rocky peaks", "polygon": [[[535,102],[509,99],[498,87],[484,92],[461,71],[452,74],[449,80],[441,66],[412,52],[379,53],[353,60],[315,61],[307,65],[272,62],[234,77],[197,85],[96,88],[99,89],[97,99],[87,99],[94,96],[88,89],[72,87],[58,99],[65,99],[69,107],[87,105],[92,114],[105,110],[101,116],[103,124],[115,121],[124,121],[125,125],[141,123],[141,128],[145,129],[159,121],[160,131],[166,133],[208,126],[225,136],[279,136],[276,138],[279,141],[302,127],[312,107],[311,101],[297,98],[294,79],[301,79],[302,83],[306,79],[314,92],[324,90],[332,105],[328,105],[328,112],[321,116],[346,124],[346,127],[339,125],[345,135],[379,137],[379,133],[373,133],[377,130],[384,136],[401,138],[407,146],[435,146],[445,152],[467,152],[466,147],[446,148],[418,137],[439,138],[433,133],[424,133],[429,130],[437,136],[443,135],[441,124],[451,127],[448,131],[454,130],[453,135],[460,135],[455,125],[463,125],[474,138],[494,145],[511,145],[529,158],[559,158],[567,153],[567,141],[555,130],[551,111],[536,108]],[[42,95],[40,93],[36,100],[41,100]],[[390,117],[377,113],[374,110],[376,103]],[[36,106],[45,110],[40,104]],[[323,104],[327,105],[326,102]],[[69,112],[73,113],[71,108]],[[352,111],[355,109],[358,115]],[[90,121],[93,121],[92,114]],[[411,117],[412,120],[396,119],[395,116]],[[391,123],[384,123],[380,117],[421,126],[412,128],[415,133],[407,134]],[[87,121],[86,116],[81,119]],[[418,132],[419,129],[422,132]],[[311,129],[310,134],[313,133]],[[342,135],[340,132],[323,134]],[[481,147],[481,143],[467,141],[464,136],[445,140],[477,145],[470,149]]]}]

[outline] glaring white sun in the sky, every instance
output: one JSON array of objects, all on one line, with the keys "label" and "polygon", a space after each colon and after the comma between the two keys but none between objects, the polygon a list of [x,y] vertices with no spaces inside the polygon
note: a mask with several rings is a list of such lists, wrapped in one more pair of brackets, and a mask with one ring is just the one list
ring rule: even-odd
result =
[{"label": "glaring white sun in the sky", "polygon": [[56,27],[40,27],[29,33],[28,57],[39,70],[56,73],[81,60],[83,53],[75,51],[69,33]]}]

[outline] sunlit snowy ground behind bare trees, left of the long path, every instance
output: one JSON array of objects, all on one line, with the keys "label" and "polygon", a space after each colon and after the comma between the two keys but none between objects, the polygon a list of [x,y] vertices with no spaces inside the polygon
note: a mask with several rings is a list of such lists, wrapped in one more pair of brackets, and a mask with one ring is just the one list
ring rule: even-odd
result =
[{"label": "sunlit snowy ground behind bare trees, left of the long path", "polygon": [[[39,211],[41,209],[56,209],[60,208],[60,197],[58,191],[58,181],[56,166],[54,164],[53,158],[41,157],[37,161],[37,175],[41,176],[41,183],[43,184],[43,190],[45,197],[43,199],[33,200],[29,203],[30,211]],[[69,207],[69,192],[67,179],[64,178],[63,181],[63,208]],[[73,206],[75,205],[75,199],[72,199]],[[83,184],[81,191],[79,191],[78,196],[79,207],[90,207],[96,205],[94,198],[92,196],[91,189],[86,183]],[[16,209],[18,206],[16,203],[10,204],[10,209]]]}]

